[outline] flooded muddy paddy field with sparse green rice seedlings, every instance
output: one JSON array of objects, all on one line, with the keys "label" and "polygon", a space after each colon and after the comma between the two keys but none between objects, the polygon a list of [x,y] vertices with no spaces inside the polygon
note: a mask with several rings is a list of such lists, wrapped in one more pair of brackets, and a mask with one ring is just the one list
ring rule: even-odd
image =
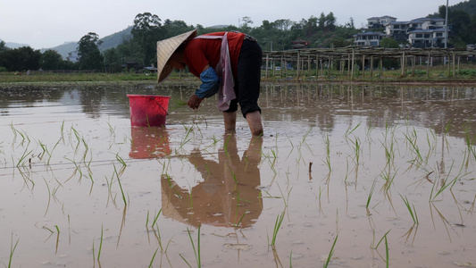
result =
[{"label": "flooded muddy paddy field with sparse green rice seedlings", "polygon": [[264,84],[261,138],[195,88],[0,88],[0,264],[476,267],[475,88]]}]

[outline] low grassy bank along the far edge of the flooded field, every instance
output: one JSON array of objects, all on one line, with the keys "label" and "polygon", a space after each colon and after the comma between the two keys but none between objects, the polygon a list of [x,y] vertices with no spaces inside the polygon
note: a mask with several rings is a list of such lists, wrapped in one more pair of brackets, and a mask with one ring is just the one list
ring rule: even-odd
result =
[{"label": "low grassy bank along the far edge of the flooded field", "polygon": [[[416,66],[414,71],[411,68],[405,71],[402,75],[401,70],[392,71],[371,71],[355,70],[354,76],[348,75],[348,71],[338,70],[319,70],[319,76],[316,78],[316,70],[301,71],[299,80],[317,80],[317,81],[334,81],[334,82],[370,82],[370,83],[405,83],[405,82],[476,82],[476,65],[461,64],[459,68],[453,69],[448,66],[438,65],[430,67],[429,75],[427,76],[426,66]],[[271,80],[296,80],[296,70],[283,71],[262,71],[263,81]],[[168,80],[196,80],[196,78],[188,72],[182,73],[172,72]],[[31,75],[15,74],[13,72],[0,72],[0,83],[35,83],[35,82],[81,82],[81,81],[151,81],[156,80],[154,73],[102,73],[102,72],[88,72],[88,73],[53,73],[53,72],[33,72]]]}]

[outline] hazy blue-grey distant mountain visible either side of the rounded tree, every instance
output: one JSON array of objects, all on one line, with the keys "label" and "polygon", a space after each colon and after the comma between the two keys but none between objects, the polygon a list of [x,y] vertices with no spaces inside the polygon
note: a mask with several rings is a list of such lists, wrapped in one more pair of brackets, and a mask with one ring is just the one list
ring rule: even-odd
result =
[{"label": "hazy blue-grey distant mountain visible either side of the rounded tree", "polygon": [[[103,52],[104,50],[107,50],[109,48],[113,48],[113,47],[121,45],[122,40],[131,37],[130,35],[131,29],[132,29],[132,26],[129,26],[127,29],[123,29],[119,32],[113,33],[112,35],[101,38],[100,40],[103,41],[103,44],[99,46],[99,50]],[[73,52],[78,48],[78,42],[79,40],[77,42],[64,43],[63,45],[54,46],[52,48],[42,48],[40,51],[41,53],[43,53],[48,49],[53,49],[59,54],[61,54],[63,56],[63,59],[66,59],[66,57],[68,56],[68,53]]]}]

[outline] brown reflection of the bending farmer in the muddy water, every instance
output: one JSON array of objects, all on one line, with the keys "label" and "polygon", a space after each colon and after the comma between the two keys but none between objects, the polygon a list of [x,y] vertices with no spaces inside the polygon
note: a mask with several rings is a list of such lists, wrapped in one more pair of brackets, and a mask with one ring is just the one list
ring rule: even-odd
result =
[{"label": "brown reflection of the bending farmer in the muddy water", "polygon": [[202,174],[203,182],[182,189],[170,177],[162,177],[163,215],[197,226],[249,227],[263,209],[260,200],[260,171],[263,139],[252,138],[240,159],[234,135],[225,136],[218,163],[205,159],[199,151],[188,161]]}]

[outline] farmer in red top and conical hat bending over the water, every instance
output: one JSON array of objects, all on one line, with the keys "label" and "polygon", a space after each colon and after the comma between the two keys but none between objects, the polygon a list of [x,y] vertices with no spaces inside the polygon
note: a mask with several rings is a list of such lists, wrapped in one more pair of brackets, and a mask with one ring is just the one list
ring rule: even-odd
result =
[{"label": "farmer in red top and conical hat bending over the water", "polygon": [[196,37],[196,30],[157,42],[158,81],[173,68],[184,69],[200,78],[202,84],[190,96],[188,106],[197,109],[205,97],[218,93],[225,130],[234,131],[238,103],[253,135],[263,134],[260,94],[261,47],[243,33],[217,32]]}]

